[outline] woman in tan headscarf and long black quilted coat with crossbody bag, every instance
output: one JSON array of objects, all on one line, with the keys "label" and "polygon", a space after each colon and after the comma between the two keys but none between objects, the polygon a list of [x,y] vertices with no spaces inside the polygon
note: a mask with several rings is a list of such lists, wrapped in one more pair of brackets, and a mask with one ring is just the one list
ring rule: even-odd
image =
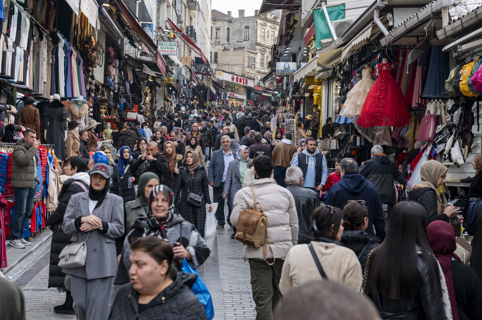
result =
[{"label": "woman in tan headscarf and long black quilted coat with crossbody bag", "polygon": [[[187,194],[194,193],[201,196],[201,204],[195,206],[187,202]],[[179,170],[174,185],[174,195],[179,202],[179,214],[196,226],[196,229],[204,237],[204,226],[206,224],[206,203],[209,204],[209,211],[213,210],[211,198],[209,197],[208,176],[206,170],[200,164],[199,155],[193,151],[186,152],[184,167]]]}]

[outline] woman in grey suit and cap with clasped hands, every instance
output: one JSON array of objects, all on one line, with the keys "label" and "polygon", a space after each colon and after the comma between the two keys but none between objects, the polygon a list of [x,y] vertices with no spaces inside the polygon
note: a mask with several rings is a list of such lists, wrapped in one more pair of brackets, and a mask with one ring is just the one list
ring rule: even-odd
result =
[{"label": "woman in grey suit and cap with clasped hands", "polygon": [[123,201],[108,193],[111,168],[98,163],[90,174],[89,191],[73,195],[62,224],[72,242],[86,241],[83,267],[63,268],[78,320],[107,319],[109,296],[117,271],[116,238],[124,234]]}]

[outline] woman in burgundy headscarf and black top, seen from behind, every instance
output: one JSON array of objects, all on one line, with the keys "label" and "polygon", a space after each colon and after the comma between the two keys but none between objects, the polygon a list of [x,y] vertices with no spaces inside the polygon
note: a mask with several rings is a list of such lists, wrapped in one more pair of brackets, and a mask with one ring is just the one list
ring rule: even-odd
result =
[{"label": "woman in burgundy headscarf and black top, seen from behind", "polygon": [[454,253],[457,248],[454,227],[434,221],[427,227],[427,240],[442,267],[454,320],[480,319],[482,283],[477,273]]}]

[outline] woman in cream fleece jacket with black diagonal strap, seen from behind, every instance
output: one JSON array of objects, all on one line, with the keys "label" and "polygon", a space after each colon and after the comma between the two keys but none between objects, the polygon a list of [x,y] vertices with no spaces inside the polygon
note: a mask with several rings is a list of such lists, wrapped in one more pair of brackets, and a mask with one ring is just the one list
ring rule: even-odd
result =
[{"label": "woman in cream fleece jacket with black diagonal strap, seen from behind", "polygon": [[355,253],[340,242],[343,234],[340,209],[321,205],[311,214],[313,239],[290,249],[281,272],[283,295],[313,280],[342,282],[355,291],[362,286],[362,267]]}]

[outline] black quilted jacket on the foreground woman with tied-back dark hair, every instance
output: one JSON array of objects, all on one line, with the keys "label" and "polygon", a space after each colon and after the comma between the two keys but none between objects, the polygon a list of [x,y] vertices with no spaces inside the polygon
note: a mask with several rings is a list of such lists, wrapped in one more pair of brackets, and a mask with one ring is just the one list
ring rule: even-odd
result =
[{"label": "black quilted jacket on the foreground woman with tied-back dark hair", "polygon": [[197,276],[192,273],[178,272],[174,282],[159,293],[139,313],[139,293],[131,283],[123,285],[117,293],[109,320],[204,320],[206,311],[191,287]]}]

